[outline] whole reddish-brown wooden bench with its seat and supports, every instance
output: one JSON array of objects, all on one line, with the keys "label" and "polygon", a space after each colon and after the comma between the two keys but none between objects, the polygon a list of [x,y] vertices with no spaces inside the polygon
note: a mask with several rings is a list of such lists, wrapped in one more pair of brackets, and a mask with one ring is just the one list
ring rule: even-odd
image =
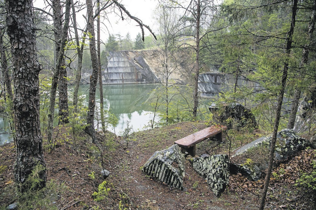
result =
[{"label": "whole reddish-brown wooden bench with its seat and supports", "polygon": [[174,144],[177,144],[179,147],[181,147],[182,153],[186,151],[192,157],[194,157],[197,143],[204,141],[205,139],[209,139],[212,136],[214,136],[218,141],[221,141],[222,130],[227,130],[227,127],[223,125],[213,125],[209,128],[205,128],[182,139],[179,139],[175,141]]}]

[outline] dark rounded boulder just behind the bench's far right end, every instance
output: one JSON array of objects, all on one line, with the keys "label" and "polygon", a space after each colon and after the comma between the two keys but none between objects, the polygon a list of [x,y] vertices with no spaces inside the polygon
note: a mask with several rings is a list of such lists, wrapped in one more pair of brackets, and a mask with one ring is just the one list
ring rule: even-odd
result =
[{"label": "dark rounded boulder just behind the bench's far right end", "polygon": [[226,125],[228,129],[231,129],[233,125],[235,125],[236,128],[242,128],[247,125],[251,125],[252,127],[257,126],[256,119],[251,110],[239,103],[225,104],[221,106],[221,109],[218,109],[215,104],[212,104],[209,110],[220,122]]}]

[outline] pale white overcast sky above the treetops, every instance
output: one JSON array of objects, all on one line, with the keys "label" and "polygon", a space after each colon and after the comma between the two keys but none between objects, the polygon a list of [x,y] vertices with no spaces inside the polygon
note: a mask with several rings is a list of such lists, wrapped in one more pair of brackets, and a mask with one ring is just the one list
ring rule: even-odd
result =
[{"label": "pale white overcast sky above the treetops", "polygon": [[[50,1],[50,0],[48,0]],[[85,0],[77,0],[78,2],[85,3]],[[155,0],[121,0],[121,4],[125,5],[125,8],[131,15],[139,18],[144,24],[148,25],[152,30],[155,30],[155,21],[153,19],[153,13],[157,5]],[[44,0],[33,0],[34,7],[43,9],[45,7]],[[86,21],[82,17],[82,14],[86,15],[86,11],[81,14],[77,14],[77,22],[81,28],[86,24]],[[125,15],[126,17],[126,15]],[[101,39],[106,42],[108,34],[120,33],[122,37],[125,37],[127,32],[130,32],[131,38],[135,39],[137,34],[141,32],[140,27],[136,26],[137,23],[134,20],[125,19],[122,21],[119,16],[115,14],[109,14],[108,19],[111,21],[109,24],[107,21],[103,21],[101,24],[102,32]],[[101,18],[102,20],[102,18]],[[149,35],[147,29],[145,29],[145,35]]]}]

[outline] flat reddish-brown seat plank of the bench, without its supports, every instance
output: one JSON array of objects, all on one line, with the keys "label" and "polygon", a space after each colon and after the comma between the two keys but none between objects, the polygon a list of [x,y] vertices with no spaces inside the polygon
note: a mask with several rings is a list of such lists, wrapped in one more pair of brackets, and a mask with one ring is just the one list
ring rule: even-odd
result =
[{"label": "flat reddish-brown seat plank of the bench, without its supports", "polygon": [[175,141],[174,144],[178,144],[179,147],[188,149],[197,143],[204,141],[205,139],[222,133],[222,130],[227,130],[227,127],[223,125],[213,125],[209,128],[205,128],[182,139],[179,139]]}]

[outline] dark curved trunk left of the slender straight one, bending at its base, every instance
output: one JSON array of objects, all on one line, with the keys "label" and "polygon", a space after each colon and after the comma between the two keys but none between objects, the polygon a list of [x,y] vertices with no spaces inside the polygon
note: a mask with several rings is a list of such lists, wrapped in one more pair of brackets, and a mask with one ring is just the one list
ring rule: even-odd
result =
[{"label": "dark curved trunk left of the slender straight one, bending at its base", "polygon": [[95,129],[94,129],[94,108],[95,108],[95,91],[98,81],[98,56],[95,49],[95,33],[94,33],[94,19],[93,19],[93,8],[92,0],[86,0],[87,11],[88,11],[88,31],[90,33],[90,54],[92,62],[92,75],[90,77],[90,89],[89,89],[89,105],[88,105],[88,116],[87,124],[85,128],[86,132],[92,137],[92,143],[96,143]]}]

